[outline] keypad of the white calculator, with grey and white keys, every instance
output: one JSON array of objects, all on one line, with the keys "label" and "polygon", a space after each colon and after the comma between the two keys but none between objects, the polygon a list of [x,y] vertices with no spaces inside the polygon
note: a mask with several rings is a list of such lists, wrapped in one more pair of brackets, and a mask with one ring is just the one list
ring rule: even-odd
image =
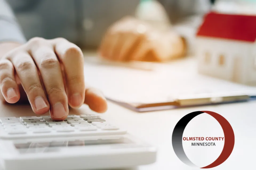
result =
[{"label": "keypad of the white calculator, with grey and white keys", "polygon": [[0,117],[0,122],[0,138],[126,133],[94,114],[69,115],[65,121],[54,121],[50,116]]}]

